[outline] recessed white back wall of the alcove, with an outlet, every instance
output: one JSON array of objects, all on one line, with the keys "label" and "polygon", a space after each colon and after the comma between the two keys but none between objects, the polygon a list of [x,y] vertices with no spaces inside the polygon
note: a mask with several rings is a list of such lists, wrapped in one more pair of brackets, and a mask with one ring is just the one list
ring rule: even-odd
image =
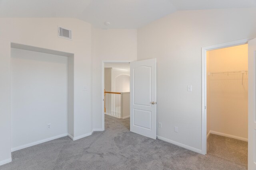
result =
[{"label": "recessed white back wall of the alcove, with an outlet", "polygon": [[68,57],[12,48],[11,147],[67,133]]}]

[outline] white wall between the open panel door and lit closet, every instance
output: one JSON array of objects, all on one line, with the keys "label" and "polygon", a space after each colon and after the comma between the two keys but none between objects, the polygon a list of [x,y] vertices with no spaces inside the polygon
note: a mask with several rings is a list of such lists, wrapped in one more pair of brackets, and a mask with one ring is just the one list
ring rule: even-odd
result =
[{"label": "white wall between the open panel door and lit closet", "polygon": [[256,37],[255,18],[255,8],[179,11],[138,29],[138,60],[157,61],[157,135],[200,152],[201,48]]}]

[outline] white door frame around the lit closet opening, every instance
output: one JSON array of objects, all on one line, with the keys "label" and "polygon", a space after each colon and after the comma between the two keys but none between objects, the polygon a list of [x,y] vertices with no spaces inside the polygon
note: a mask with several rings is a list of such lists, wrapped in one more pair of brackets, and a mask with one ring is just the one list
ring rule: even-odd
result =
[{"label": "white door frame around the lit closet opening", "polygon": [[208,46],[208,47],[202,47],[202,129],[201,129],[201,135],[202,135],[202,154],[206,154],[207,153],[207,135],[206,135],[206,131],[207,131],[207,113],[206,113],[206,107],[207,107],[207,101],[206,101],[206,80],[207,80],[207,72],[206,72],[206,51],[210,51],[210,50],[215,50],[215,49],[222,49],[222,48],[226,48],[226,47],[233,47],[233,46],[237,46],[237,45],[244,45],[247,44],[248,41],[250,41],[251,39],[241,39],[241,40],[237,40],[237,41],[231,41],[228,43],[222,43],[222,44],[218,44],[218,45],[212,45],[212,46]]}]

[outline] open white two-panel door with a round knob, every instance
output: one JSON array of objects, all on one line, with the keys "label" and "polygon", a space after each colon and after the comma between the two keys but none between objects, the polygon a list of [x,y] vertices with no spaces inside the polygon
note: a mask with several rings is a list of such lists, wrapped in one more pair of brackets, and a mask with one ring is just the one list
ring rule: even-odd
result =
[{"label": "open white two-panel door with a round knob", "polygon": [[130,63],[130,131],[156,139],[156,59]]}]

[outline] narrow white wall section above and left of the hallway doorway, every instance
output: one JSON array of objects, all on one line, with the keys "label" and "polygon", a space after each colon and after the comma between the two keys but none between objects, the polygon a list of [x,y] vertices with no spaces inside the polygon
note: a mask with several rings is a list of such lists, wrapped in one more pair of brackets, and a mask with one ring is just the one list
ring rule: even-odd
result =
[{"label": "narrow white wall section above and left of the hallway doorway", "polygon": [[135,61],[136,59],[135,29],[92,30],[92,116],[95,129],[102,129],[102,61]]}]

